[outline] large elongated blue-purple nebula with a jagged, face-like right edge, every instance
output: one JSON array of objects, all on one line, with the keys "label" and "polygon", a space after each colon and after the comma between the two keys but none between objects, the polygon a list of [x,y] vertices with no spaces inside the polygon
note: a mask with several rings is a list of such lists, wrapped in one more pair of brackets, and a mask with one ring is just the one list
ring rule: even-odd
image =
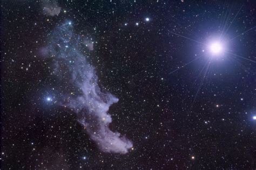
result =
[{"label": "large elongated blue-purple nebula with a jagged, face-like right edge", "polygon": [[109,107],[118,98],[100,89],[95,67],[83,52],[87,46],[81,37],[71,22],[57,26],[49,35],[46,49],[53,63],[52,74],[59,84],[61,105],[77,114],[77,121],[101,151],[125,154],[132,142],[109,128]]}]

